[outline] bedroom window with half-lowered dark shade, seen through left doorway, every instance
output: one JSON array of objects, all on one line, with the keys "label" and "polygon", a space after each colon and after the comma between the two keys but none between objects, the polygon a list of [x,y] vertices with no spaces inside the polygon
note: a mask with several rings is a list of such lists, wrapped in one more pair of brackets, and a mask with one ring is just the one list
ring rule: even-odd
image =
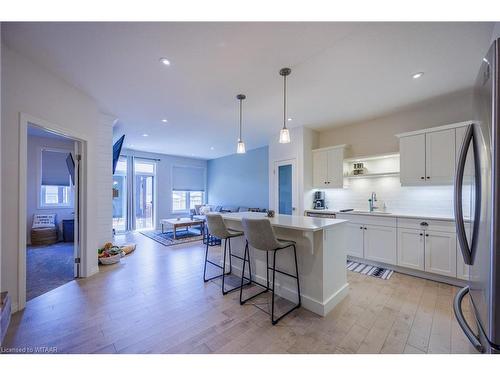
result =
[{"label": "bedroom window with half-lowered dark shade, seen through left doorway", "polygon": [[69,150],[41,149],[40,208],[73,206],[73,188],[66,159]]}]

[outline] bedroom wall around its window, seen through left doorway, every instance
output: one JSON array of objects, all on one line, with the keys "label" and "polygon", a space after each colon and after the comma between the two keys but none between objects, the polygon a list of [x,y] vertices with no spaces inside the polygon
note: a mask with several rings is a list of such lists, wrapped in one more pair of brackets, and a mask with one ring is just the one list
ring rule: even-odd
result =
[{"label": "bedroom wall around its window, seen through left doorway", "polygon": [[[59,224],[59,237],[61,237],[61,225],[64,219],[73,219],[74,207],[69,208],[38,208],[38,194],[40,191],[41,160],[40,150],[44,147],[57,148],[74,151],[74,141],[55,139],[28,135],[28,168],[26,186],[26,237],[27,243],[31,244],[31,225],[34,214],[55,213]],[[68,172],[69,175],[69,172]]]}]

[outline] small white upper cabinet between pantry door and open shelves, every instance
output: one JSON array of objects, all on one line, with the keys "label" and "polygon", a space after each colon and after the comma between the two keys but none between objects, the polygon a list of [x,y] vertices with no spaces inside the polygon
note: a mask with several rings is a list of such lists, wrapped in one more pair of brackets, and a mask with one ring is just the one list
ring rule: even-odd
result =
[{"label": "small white upper cabinet between pantry door and open shelves", "polygon": [[313,150],[313,185],[315,188],[344,186],[345,145]]}]

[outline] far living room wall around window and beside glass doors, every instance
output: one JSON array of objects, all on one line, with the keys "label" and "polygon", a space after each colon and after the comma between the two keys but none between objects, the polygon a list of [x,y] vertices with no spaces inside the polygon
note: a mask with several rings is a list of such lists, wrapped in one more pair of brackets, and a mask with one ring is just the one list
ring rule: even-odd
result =
[{"label": "far living room wall around window and beside glass doors", "polygon": [[144,157],[151,159],[160,159],[156,163],[156,227],[161,227],[160,220],[177,216],[186,216],[186,214],[172,213],[172,168],[174,166],[191,166],[205,169],[205,199],[207,191],[206,170],[207,161],[201,159],[185,158],[180,156],[154,154],[135,150],[123,149],[122,155]]}]

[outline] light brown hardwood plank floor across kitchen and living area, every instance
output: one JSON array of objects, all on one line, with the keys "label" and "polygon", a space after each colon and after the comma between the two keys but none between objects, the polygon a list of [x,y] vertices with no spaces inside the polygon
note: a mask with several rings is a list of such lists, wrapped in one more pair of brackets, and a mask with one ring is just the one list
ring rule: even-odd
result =
[{"label": "light brown hardwood plank floor across kitchen and living area", "polygon": [[349,294],[327,317],[299,309],[272,326],[256,306],[240,306],[238,293],[222,296],[217,283],[203,282],[200,243],[165,247],[141,234],[126,240],[137,242],[137,250],[121,264],[29,301],[12,317],[5,347],[58,353],[474,353],[453,316],[457,288],[450,285],[348,271]]}]

